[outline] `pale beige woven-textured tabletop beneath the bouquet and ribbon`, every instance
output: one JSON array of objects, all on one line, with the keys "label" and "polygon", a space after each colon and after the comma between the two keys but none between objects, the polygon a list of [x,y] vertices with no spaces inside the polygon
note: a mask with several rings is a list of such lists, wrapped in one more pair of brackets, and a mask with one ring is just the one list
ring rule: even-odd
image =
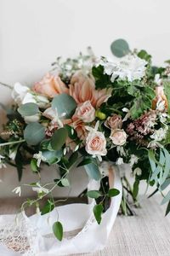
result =
[{"label": "pale beige woven-textured tabletop beneath the bouquet and ribbon", "polygon": [[[142,208],[136,210],[137,216],[116,218],[104,251],[77,256],[169,256],[170,217],[164,217],[165,209],[160,206],[160,201],[159,195],[150,200],[142,198]],[[14,213],[19,204],[18,199],[6,204],[0,200],[0,214]]]}]

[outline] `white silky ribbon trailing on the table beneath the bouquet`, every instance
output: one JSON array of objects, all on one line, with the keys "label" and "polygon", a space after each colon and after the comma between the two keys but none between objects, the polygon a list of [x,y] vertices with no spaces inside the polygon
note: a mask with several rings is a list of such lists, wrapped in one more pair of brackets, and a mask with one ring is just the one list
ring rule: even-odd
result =
[{"label": "white silky ribbon trailing on the table beneath the bouquet", "polygon": [[[110,188],[114,187],[115,189],[119,189],[120,194],[111,199],[111,207],[102,215],[101,224],[97,224],[94,219],[94,200],[88,205],[70,204],[57,207],[53,212],[49,212],[43,216],[40,216],[40,214],[35,214],[30,218],[25,216],[25,236],[27,236],[32,252],[26,252],[24,254],[13,253],[12,250],[0,244],[0,255],[56,256],[69,255],[71,253],[94,253],[97,250],[102,250],[111,233],[122,200],[121,179],[118,172],[113,171],[113,168],[110,170],[109,180]],[[89,187],[90,189],[95,189],[96,186],[99,186],[99,184],[89,183],[88,189]],[[64,238],[62,241],[58,241],[52,233],[52,226],[58,216],[59,221],[64,226],[64,231],[67,232],[67,238]],[[9,223],[12,218],[14,222],[15,217],[16,215],[1,216],[0,230],[4,222],[8,224],[9,218]],[[68,232],[77,232],[77,235],[68,237]]]}]

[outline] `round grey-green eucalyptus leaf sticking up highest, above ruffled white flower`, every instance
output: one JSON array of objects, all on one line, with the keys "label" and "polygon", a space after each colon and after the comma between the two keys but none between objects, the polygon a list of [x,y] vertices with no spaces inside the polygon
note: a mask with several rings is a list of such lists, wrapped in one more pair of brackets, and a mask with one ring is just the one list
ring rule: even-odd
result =
[{"label": "round grey-green eucalyptus leaf sticking up highest, above ruffled white flower", "polygon": [[129,46],[127,44],[127,41],[124,39],[117,39],[111,44],[111,52],[113,55],[116,55],[116,57],[123,57],[127,55],[130,52]]}]

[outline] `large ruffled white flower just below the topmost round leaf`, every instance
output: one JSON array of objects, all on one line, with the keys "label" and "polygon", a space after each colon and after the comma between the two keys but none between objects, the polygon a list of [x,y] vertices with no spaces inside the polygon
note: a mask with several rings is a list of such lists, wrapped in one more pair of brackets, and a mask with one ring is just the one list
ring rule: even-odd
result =
[{"label": "large ruffled white flower just below the topmost round leaf", "polygon": [[111,75],[111,82],[114,82],[117,77],[122,80],[127,79],[129,82],[142,79],[147,63],[136,55],[126,55],[116,62],[105,59],[100,61],[100,65],[104,67],[104,72]]}]

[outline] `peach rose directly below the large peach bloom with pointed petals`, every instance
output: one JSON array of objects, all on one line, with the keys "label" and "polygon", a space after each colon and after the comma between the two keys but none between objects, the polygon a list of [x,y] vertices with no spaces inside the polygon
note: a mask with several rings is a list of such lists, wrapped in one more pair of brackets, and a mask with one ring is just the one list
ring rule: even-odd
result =
[{"label": "peach rose directly below the large peach bloom with pointed petals", "polygon": [[95,119],[95,108],[90,101],[79,104],[73,119],[81,119],[84,123],[93,122]]}]

